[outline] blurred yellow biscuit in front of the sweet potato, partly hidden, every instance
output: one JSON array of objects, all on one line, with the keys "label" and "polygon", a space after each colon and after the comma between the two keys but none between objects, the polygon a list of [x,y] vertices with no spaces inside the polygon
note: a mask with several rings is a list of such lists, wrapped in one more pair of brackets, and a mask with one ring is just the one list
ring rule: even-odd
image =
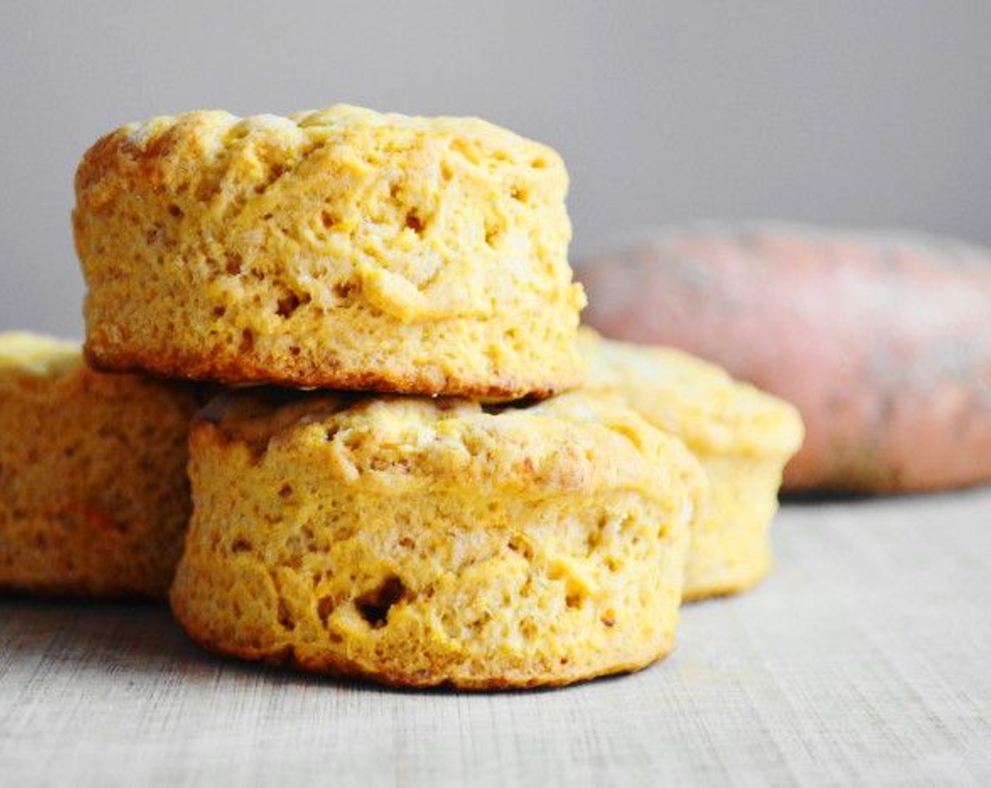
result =
[{"label": "blurred yellow biscuit in front of the sweet potato, partly hidden", "polygon": [[589,361],[587,389],[677,435],[709,476],[709,506],[692,530],[686,600],[759,583],[771,567],[781,472],[802,444],[798,411],[676,350],[614,342],[588,328],[580,346]]}]

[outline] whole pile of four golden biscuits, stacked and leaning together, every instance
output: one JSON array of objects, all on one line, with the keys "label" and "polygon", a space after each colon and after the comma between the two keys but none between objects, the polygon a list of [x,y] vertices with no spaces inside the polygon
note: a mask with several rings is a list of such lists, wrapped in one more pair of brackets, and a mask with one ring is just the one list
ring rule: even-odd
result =
[{"label": "whole pile of four golden biscuits, stacked and leaning together", "polygon": [[[171,581],[211,650],[405,686],[666,654],[683,597],[766,573],[801,423],[580,339],[566,189],[552,150],[475,119],[195,112],[100,140],[73,227],[101,372],[0,339],[0,583]],[[188,427],[183,545],[203,385],[230,388]]]}]

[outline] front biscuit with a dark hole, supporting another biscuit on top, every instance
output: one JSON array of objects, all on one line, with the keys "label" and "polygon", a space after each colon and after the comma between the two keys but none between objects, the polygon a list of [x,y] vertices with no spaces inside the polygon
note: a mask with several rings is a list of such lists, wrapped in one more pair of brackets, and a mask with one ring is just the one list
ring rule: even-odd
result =
[{"label": "front biscuit with a dark hole, supporting another biscuit on top", "polygon": [[212,651],[499,689],[635,670],[673,645],[704,477],[625,408],[233,394],[190,452],[171,602]]}]

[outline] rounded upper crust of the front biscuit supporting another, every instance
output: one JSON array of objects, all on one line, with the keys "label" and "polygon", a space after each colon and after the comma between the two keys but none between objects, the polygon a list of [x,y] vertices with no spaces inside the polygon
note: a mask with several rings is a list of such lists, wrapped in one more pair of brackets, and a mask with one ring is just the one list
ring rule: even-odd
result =
[{"label": "rounded upper crust of the front biscuit supporting another", "polygon": [[698,505],[704,485],[678,439],[582,393],[495,408],[453,397],[224,394],[200,411],[192,441],[242,462],[316,465],[340,482],[384,491],[622,487],[681,511]]}]

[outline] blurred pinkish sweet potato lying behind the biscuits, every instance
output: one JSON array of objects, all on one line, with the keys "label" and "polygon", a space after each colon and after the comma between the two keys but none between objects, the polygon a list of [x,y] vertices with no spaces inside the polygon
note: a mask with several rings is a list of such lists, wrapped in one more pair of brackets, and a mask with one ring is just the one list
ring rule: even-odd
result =
[{"label": "blurred pinkish sweet potato lying behind the biscuits", "polygon": [[701,226],[585,261],[586,321],[794,403],[787,491],[991,481],[991,252],[907,233]]}]

